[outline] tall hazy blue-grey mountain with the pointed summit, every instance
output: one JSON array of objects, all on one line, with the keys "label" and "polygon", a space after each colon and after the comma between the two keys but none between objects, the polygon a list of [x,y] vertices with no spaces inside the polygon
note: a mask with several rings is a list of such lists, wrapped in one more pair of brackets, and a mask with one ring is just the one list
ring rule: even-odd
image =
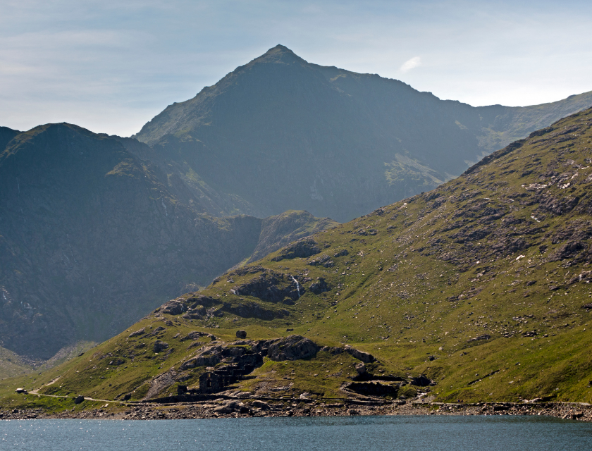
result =
[{"label": "tall hazy blue-grey mountain with the pointed summit", "polygon": [[307,63],[278,45],[168,106],[136,137],[204,212],[304,209],[343,222],[431,190],[591,105],[588,92],[474,108],[397,80]]}]

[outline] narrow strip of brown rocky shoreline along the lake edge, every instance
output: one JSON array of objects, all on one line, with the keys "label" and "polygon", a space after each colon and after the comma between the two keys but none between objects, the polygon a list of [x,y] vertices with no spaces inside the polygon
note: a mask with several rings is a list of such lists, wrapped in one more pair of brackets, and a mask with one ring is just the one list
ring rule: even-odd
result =
[{"label": "narrow strip of brown rocky shoreline along the lake edge", "polygon": [[0,410],[0,419],[215,419],[276,416],[351,416],[351,415],[538,415],[561,419],[592,421],[592,405],[586,403],[514,403],[477,404],[419,403],[394,401],[383,403],[298,402],[280,400],[214,400],[191,404],[135,404],[111,409],[75,409],[48,413],[42,409]]}]

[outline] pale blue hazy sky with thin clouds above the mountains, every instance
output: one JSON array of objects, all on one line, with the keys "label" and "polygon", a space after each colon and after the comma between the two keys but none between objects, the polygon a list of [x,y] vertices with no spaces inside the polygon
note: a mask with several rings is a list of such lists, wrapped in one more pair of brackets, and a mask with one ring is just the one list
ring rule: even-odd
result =
[{"label": "pale blue hazy sky with thin clouds above the mountains", "polygon": [[590,1],[0,0],[0,125],[129,136],[276,44],[440,99],[592,90]]}]

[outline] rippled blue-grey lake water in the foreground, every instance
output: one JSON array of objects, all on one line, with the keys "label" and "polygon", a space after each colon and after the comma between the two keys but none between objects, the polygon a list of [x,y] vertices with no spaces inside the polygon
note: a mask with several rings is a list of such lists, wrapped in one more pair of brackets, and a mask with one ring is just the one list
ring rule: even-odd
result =
[{"label": "rippled blue-grey lake water in the foreground", "polygon": [[592,424],[548,416],[0,421],[0,450],[592,450]]}]

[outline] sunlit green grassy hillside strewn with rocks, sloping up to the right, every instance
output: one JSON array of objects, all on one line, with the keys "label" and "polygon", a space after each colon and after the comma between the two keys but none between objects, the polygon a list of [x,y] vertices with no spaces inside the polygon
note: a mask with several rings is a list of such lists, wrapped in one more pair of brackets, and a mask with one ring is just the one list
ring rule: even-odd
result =
[{"label": "sunlit green grassy hillside strewn with rocks, sloping up to the right", "polygon": [[[588,109],[431,192],[228,271],[39,383],[61,374],[47,393],[140,400],[166,375],[172,395],[232,370],[214,351],[298,335],[315,355],[264,361],[224,393],[591,402],[591,187]],[[127,366],[104,369],[104,356]]]}]

